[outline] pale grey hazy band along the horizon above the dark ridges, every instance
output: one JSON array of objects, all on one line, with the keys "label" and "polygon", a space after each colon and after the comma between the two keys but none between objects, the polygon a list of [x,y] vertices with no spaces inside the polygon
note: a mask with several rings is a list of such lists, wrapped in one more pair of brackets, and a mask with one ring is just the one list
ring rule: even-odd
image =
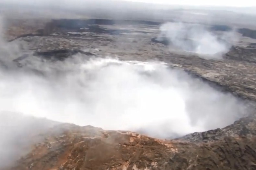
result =
[{"label": "pale grey hazy band along the horizon above the dark ridges", "polygon": [[[215,6],[190,6],[190,4],[165,5],[153,3],[150,4],[150,2],[153,1],[146,0],[142,0],[144,2],[134,1],[141,0],[95,0],[93,2],[87,0],[39,0],[36,2],[26,0],[22,1],[22,3],[17,0],[2,0],[0,2],[0,13],[3,16],[12,18],[22,17],[22,15],[25,14],[26,16],[32,18],[84,17],[148,20],[157,22],[168,22],[175,20],[178,22],[219,25],[227,24],[235,27],[247,27],[251,29],[256,28],[256,24],[254,22],[256,7],[216,6],[218,5],[217,3]],[[148,4],[145,5],[145,2]]]}]

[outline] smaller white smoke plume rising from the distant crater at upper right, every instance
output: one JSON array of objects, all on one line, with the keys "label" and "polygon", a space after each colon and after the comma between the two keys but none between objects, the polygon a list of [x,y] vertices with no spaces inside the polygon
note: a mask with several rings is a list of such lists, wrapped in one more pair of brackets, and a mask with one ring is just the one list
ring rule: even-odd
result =
[{"label": "smaller white smoke plume rising from the distant crater at upper right", "polygon": [[166,23],[160,27],[159,41],[166,38],[172,50],[188,51],[202,58],[220,59],[235,39],[234,31],[213,33],[205,25]]}]

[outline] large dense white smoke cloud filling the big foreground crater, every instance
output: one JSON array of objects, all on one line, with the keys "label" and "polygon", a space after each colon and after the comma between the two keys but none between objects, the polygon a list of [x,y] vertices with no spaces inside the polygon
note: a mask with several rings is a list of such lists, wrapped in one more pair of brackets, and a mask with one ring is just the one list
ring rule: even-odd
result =
[{"label": "large dense white smoke cloud filling the big foreground crater", "polygon": [[164,63],[79,55],[29,60],[27,67],[38,71],[1,70],[1,110],[166,138],[224,127],[245,109],[232,95]]}]

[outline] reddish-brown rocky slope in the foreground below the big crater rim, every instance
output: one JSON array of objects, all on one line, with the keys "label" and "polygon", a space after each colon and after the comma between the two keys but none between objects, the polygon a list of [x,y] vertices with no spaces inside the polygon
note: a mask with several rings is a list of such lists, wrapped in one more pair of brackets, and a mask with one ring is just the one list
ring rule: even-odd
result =
[{"label": "reddish-brown rocky slope in the foreground below the big crater rim", "polygon": [[[255,137],[208,143],[158,140],[132,132],[60,125],[11,170],[256,169]],[[9,170],[9,169],[8,169]]]}]

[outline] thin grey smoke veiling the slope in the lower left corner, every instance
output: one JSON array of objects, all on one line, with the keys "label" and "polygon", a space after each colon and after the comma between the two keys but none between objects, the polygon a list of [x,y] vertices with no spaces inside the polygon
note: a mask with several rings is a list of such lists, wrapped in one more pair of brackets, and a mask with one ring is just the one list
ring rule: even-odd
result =
[{"label": "thin grey smoke veiling the slope in the lower left corner", "polygon": [[32,144],[44,140],[49,128],[60,124],[47,119],[38,119],[14,112],[0,112],[0,169],[30,152]]}]

